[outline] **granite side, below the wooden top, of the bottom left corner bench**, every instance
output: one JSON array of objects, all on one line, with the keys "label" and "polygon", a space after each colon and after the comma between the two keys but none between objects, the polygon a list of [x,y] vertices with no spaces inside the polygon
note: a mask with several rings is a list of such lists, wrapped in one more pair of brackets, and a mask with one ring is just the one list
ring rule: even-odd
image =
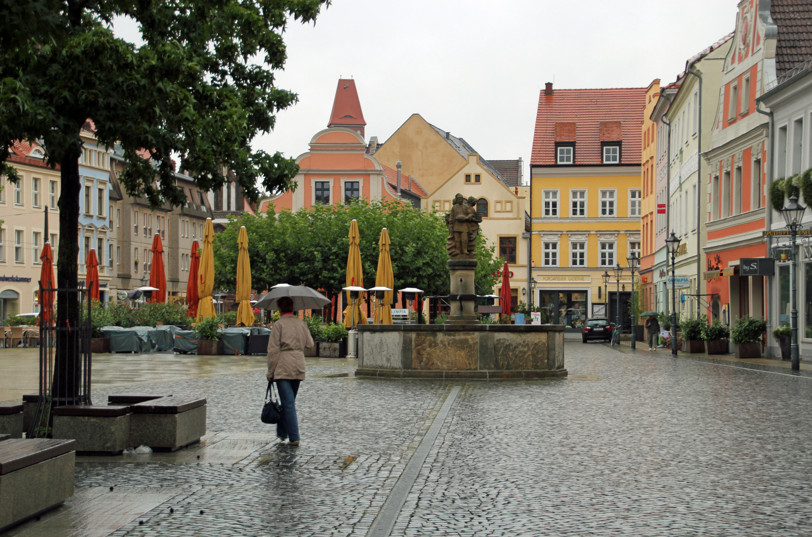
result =
[{"label": "granite side, below the wooden top, of the bottom left corner bench", "polygon": [[62,505],[73,496],[76,452],[0,475],[0,531]]}]

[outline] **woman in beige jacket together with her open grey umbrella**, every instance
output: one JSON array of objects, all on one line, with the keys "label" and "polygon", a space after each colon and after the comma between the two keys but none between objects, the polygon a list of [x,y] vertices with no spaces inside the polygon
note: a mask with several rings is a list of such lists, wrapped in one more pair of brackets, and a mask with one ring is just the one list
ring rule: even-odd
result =
[{"label": "woman in beige jacket together with her open grey umbrella", "polygon": [[276,425],[276,435],[281,442],[287,439],[290,446],[296,447],[300,442],[296,395],[304,380],[304,350],[313,349],[314,345],[307,324],[293,312],[319,309],[329,302],[320,292],[304,285],[272,289],[257,302],[257,307],[278,309],[281,314],[270,329],[266,378],[269,383],[276,383],[282,404],[282,420]]}]

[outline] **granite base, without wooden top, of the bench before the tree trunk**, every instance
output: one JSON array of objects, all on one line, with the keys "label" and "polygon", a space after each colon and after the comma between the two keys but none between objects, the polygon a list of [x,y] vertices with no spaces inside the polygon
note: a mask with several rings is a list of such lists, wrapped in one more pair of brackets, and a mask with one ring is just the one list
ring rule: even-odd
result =
[{"label": "granite base, without wooden top, of the bench before the tree trunk", "polygon": [[116,455],[132,445],[127,444],[130,414],[115,417],[54,416],[53,431],[53,438],[75,439],[76,451],[80,453]]}]

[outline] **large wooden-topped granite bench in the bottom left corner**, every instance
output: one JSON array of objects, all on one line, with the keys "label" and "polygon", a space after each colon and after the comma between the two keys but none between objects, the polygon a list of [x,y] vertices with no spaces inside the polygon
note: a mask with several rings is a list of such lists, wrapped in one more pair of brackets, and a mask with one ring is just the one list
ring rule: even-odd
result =
[{"label": "large wooden-topped granite bench in the bottom left corner", "polygon": [[74,440],[0,442],[0,531],[25,522],[73,496]]}]

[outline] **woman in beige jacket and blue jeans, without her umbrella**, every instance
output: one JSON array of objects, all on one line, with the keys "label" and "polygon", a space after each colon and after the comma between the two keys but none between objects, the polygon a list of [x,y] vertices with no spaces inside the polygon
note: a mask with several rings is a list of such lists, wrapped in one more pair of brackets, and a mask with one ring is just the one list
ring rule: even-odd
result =
[{"label": "woman in beige jacket and blue jeans, without her umbrella", "polygon": [[293,315],[292,298],[281,297],[276,305],[282,316],[270,329],[266,376],[276,383],[282,405],[282,421],[276,425],[276,435],[280,441],[289,439],[288,445],[298,446],[296,393],[304,380],[304,349],[313,348],[313,338],[304,321]]}]

